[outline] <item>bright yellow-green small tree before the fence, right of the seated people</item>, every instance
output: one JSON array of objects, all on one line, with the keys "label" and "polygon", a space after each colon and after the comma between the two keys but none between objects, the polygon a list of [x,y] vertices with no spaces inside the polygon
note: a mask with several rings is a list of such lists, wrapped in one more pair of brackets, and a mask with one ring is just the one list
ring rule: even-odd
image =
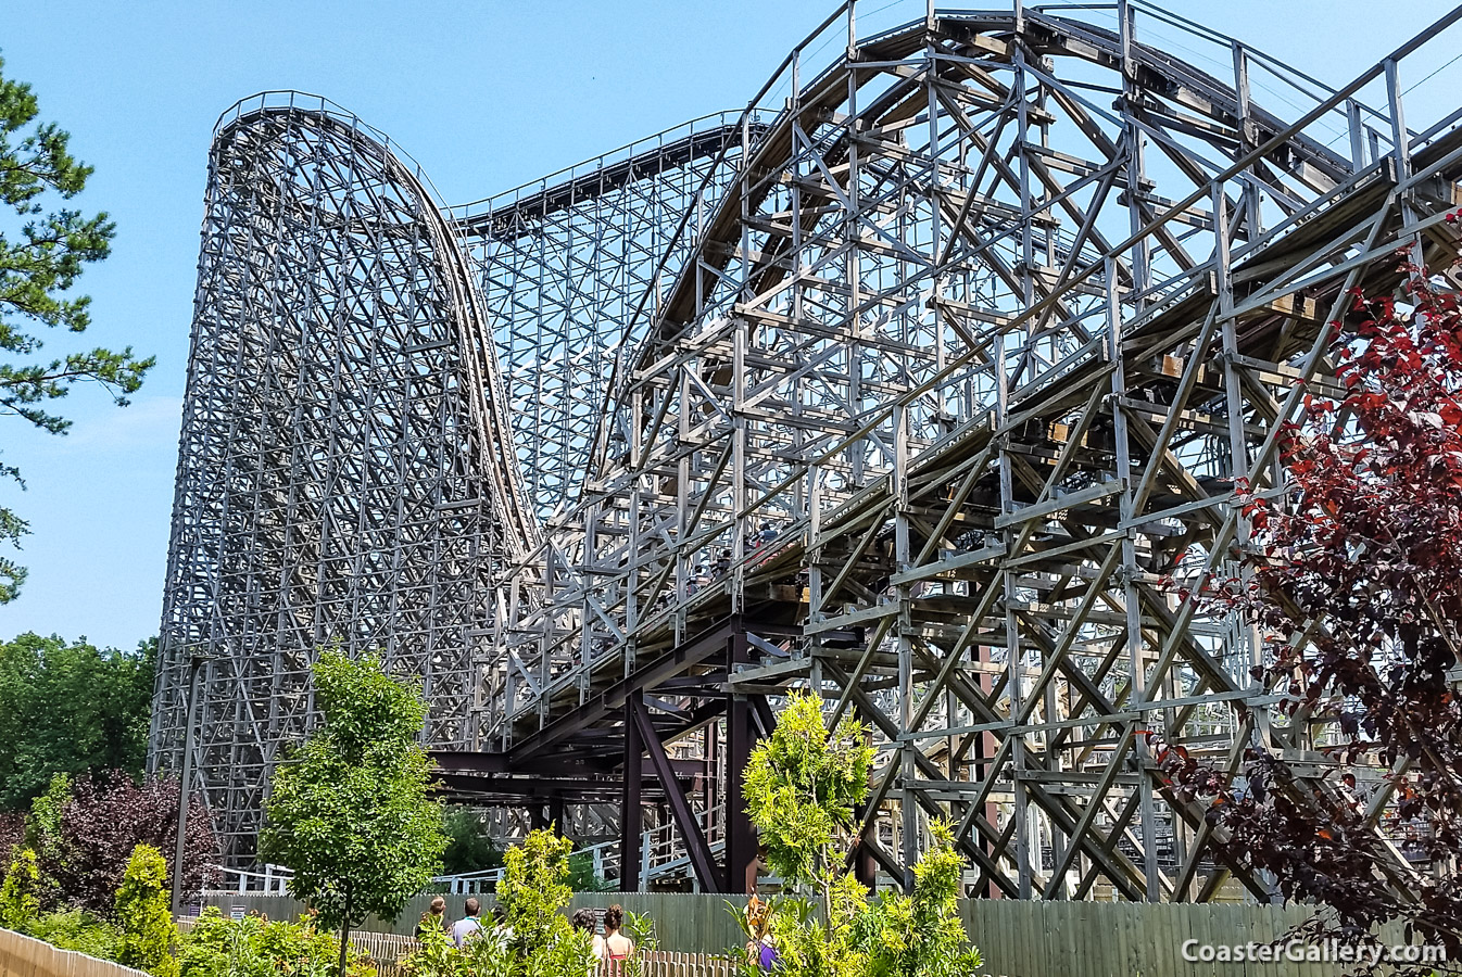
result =
[{"label": "bright yellow-green small tree before the fence, right of the seated people", "polygon": [[[822,700],[792,694],[772,736],[746,768],[747,813],[784,879],[817,895],[817,905],[782,900],[772,936],[785,977],[966,977],[981,965],[959,920],[963,862],[942,822],[914,867],[914,892],[877,903],[844,869],[852,850],[855,805],[868,792],[874,751],[868,732],[844,720],[829,732]],[[753,961],[743,971],[760,974]]]}]

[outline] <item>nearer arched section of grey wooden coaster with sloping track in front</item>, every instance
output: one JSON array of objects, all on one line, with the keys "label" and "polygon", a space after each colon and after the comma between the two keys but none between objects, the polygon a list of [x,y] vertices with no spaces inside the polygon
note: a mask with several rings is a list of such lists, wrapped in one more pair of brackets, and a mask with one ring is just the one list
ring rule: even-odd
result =
[{"label": "nearer arched section of grey wooden coaster with sloping track in front", "polygon": [[[1145,730],[1231,770],[1262,745],[1325,803],[1332,717],[1275,710],[1256,635],[1162,578],[1231,572],[1234,479],[1281,482],[1349,291],[1392,291],[1398,250],[1452,266],[1458,114],[1408,129],[1402,79],[1459,15],[1338,91],[1136,3],[931,7],[873,38],[855,15],[702,166],[677,257],[624,276],[604,407],[569,425],[580,480],[556,469],[487,568],[443,783],[617,799],[626,885],[651,805],[702,886],[741,889],[735,771],[810,688],[879,739],[866,876],[906,884],[939,816],[980,894],[1213,898],[1228,867]],[[529,375],[523,349],[499,355]],[[1396,885],[1414,870],[1398,854]]]}]

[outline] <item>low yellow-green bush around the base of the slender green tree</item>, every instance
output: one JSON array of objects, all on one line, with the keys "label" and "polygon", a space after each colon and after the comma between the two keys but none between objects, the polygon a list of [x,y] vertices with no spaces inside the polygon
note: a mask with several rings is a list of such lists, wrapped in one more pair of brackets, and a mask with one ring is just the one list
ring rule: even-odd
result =
[{"label": "low yellow-green bush around the base of the slender green tree", "polygon": [[[178,977],[327,977],[335,973],[339,943],[320,932],[311,916],[295,923],[259,916],[225,919],[209,905],[183,935]],[[376,977],[370,958],[351,946],[346,977]]]}]

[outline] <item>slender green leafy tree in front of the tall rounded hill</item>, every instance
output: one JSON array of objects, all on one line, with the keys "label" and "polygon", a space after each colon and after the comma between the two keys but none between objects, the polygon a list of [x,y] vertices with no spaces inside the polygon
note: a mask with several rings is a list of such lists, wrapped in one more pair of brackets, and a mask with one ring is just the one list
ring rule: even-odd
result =
[{"label": "slender green leafy tree in front of the tall rounded hill", "polygon": [[289,894],[341,930],[368,914],[396,919],[442,869],[442,808],[427,793],[430,759],[417,742],[427,705],[418,688],[326,651],[314,666],[320,730],[281,764],[259,850],[294,869]]}]

